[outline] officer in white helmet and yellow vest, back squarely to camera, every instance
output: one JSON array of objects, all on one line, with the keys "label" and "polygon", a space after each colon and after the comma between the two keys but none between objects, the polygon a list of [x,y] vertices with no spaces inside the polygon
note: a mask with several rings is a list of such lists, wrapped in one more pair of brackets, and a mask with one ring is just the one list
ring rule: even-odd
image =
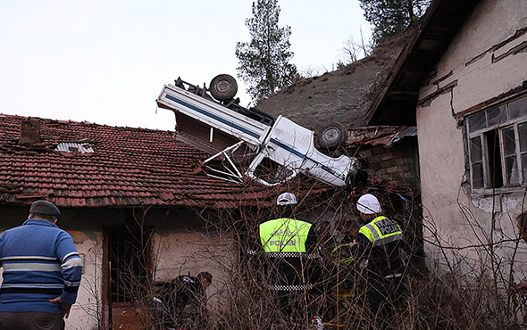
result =
[{"label": "officer in white helmet and yellow vest, back squarely to camera", "polygon": [[320,278],[317,236],[311,223],[293,218],[297,197],[283,193],[277,199],[280,218],[259,227],[264,257],[269,262],[269,289],[277,293],[281,311],[293,318],[308,315],[305,293],[316,293]]}]

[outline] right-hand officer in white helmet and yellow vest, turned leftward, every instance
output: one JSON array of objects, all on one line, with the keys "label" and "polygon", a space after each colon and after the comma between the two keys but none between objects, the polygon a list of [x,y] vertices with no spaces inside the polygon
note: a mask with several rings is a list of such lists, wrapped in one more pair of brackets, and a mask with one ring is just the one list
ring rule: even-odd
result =
[{"label": "right-hand officer in white helmet and yellow vest, turned leftward", "polygon": [[381,216],[381,203],[372,194],[356,202],[364,226],[350,243],[357,262],[367,261],[367,298],[375,329],[393,326],[393,309],[405,291],[404,263],[400,258],[403,232],[396,222]]}]

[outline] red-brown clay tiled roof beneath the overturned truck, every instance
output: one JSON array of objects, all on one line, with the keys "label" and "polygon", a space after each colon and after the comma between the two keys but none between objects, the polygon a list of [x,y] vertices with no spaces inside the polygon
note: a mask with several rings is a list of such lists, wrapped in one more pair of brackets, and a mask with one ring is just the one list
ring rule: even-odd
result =
[{"label": "red-brown clay tiled roof beneath the overturned truck", "polygon": [[[199,162],[207,155],[170,131],[33,118],[40,122],[41,143],[19,145],[21,123],[28,119],[0,115],[4,205],[42,198],[60,207],[235,208],[263,202],[268,194],[263,187],[205,176]],[[93,153],[59,151],[76,145]]]}]

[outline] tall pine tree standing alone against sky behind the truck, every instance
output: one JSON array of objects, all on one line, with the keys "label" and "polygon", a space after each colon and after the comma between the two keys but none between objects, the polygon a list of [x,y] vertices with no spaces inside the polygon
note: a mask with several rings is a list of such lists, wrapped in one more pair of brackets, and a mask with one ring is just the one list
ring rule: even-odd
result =
[{"label": "tall pine tree standing alone against sky behind the truck", "polygon": [[253,3],[253,16],[246,20],[251,41],[236,43],[239,66],[238,78],[247,83],[247,93],[253,103],[274,95],[288,86],[297,75],[297,67],[289,63],[289,26],[279,28],[278,0],[257,0]]}]

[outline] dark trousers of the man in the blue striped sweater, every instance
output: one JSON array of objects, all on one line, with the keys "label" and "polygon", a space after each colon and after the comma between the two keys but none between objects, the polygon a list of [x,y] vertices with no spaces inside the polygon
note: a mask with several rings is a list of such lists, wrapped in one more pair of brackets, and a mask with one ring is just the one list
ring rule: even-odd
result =
[{"label": "dark trousers of the man in the blue striped sweater", "polygon": [[26,311],[0,312],[0,330],[64,330],[62,314]]}]

